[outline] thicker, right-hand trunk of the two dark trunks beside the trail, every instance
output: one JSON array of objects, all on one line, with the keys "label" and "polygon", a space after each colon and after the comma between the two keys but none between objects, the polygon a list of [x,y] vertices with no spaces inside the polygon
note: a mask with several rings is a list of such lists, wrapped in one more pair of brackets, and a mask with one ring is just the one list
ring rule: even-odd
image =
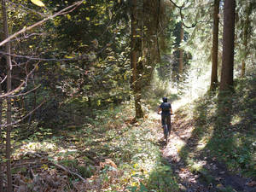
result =
[{"label": "thicker, right-hand trunk of the two dark trunks beside the trail", "polygon": [[220,90],[233,88],[236,0],[224,1],[223,61]]}]

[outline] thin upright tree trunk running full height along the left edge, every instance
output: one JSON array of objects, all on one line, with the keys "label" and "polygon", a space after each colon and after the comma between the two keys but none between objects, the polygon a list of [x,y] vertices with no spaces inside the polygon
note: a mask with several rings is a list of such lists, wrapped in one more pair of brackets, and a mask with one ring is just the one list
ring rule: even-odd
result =
[{"label": "thin upright tree trunk running full height along the left edge", "polygon": [[[6,14],[6,3],[5,0],[2,0],[2,10],[3,10],[3,31],[4,31],[4,38],[9,37],[9,30],[8,30],[8,18]],[[8,54],[6,57],[7,61],[7,92],[11,91],[11,57],[10,57],[10,45],[9,42],[5,44],[5,51]],[[10,97],[7,96],[7,130],[6,130],[6,167],[7,167],[7,191],[12,192],[12,176],[11,176],[11,166],[10,166],[10,132],[12,126],[11,124],[11,101]]]}]

